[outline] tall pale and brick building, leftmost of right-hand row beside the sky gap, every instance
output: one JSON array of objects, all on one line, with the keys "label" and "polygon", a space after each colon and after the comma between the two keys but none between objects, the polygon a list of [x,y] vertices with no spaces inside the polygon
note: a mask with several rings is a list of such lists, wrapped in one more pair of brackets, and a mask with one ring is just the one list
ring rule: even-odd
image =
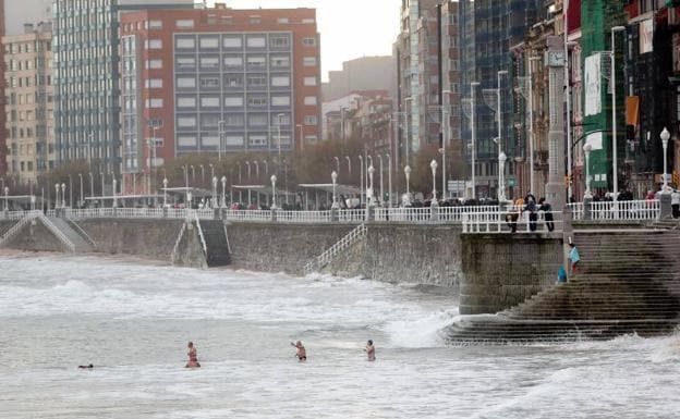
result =
[{"label": "tall pale and brick building, leftmost of right-hand row beside the sky gap", "polygon": [[412,155],[427,144],[441,146],[446,139],[447,147],[460,145],[458,14],[458,1],[402,2],[396,45],[399,112],[394,118],[400,165],[412,164]]}]

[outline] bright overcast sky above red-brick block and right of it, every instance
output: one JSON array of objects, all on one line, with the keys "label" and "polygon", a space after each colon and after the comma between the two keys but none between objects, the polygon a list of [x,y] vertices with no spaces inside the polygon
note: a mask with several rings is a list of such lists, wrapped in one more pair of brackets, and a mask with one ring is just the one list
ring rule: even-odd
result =
[{"label": "bright overcast sky above red-brick block and right of it", "polygon": [[[399,33],[401,0],[217,0],[234,9],[315,8],[321,34],[321,74],[364,56],[389,56]],[[215,0],[208,1],[211,5]]]}]

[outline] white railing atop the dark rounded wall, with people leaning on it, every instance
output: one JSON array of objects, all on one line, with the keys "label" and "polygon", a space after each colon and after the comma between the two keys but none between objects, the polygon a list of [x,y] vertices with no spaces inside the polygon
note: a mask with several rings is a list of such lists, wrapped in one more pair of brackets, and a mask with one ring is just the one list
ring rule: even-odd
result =
[{"label": "white railing atop the dark rounded wall, with people leaning on it", "polygon": [[[552,220],[546,220],[546,212],[537,211],[536,220],[530,221],[526,212],[490,211],[463,214],[463,233],[536,233],[562,231],[562,212],[550,211]],[[535,229],[532,230],[532,224]],[[551,227],[551,229],[550,229]]]}]

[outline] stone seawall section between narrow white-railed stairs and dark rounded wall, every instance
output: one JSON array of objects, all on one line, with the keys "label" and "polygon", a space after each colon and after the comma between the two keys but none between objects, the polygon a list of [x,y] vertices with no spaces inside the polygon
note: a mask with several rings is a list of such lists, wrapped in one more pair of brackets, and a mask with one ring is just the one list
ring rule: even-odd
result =
[{"label": "stone seawall section between narrow white-railed stairs and dark rounded wall", "polygon": [[458,225],[367,225],[366,238],[327,271],[378,281],[458,287],[462,279]]}]

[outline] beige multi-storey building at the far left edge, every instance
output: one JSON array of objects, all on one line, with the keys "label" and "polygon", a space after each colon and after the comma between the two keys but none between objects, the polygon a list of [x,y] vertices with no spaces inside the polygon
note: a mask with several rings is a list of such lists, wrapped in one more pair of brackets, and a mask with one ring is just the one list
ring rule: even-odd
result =
[{"label": "beige multi-storey building at the far left edge", "polygon": [[2,37],[8,173],[20,181],[54,168],[52,33],[49,23]]}]

